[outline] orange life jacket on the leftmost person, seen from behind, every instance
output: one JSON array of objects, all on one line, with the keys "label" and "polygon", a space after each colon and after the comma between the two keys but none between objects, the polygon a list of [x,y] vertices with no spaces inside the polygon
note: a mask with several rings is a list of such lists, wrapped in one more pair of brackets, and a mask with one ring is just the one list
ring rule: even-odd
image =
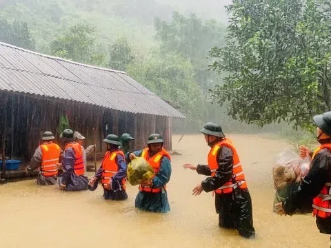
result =
[{"label": "orange life jacket on the leftmost person, seen from behind", "polygon": [[41,167],[40,172],[43,176],[57,176],[57,163],[61,154],[61,148],[55,143],[40,145],[41,148]]}]

